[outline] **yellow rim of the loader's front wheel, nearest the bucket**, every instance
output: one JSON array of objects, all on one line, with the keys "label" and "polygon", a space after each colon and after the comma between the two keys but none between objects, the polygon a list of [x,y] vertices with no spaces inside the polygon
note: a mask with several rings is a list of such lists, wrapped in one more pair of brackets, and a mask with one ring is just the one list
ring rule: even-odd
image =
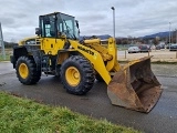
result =
[{"label": "yellow rim of the loader's front wheel, nearest the bucket", "polygon": [[70,66],[65,72],[65,78],[71,86],[76,86],[81,81],[80,72],[76,68]]}]

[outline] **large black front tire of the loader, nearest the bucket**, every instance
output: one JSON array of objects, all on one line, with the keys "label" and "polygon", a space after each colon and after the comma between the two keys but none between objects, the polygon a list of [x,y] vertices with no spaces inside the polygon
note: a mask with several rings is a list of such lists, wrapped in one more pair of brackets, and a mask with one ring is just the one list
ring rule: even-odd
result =
[{"label": "large black front tire of the loader, nearest the bucket", "polygon": [[[71,78],[67,74],[67,71],[70,71],[71,68],[74,68],[79,72],[79,78],[80,78],[77,84],[75,83],[74,85],[70,84],[67,80],[67,78]],[[95,80],[94,69],[92,64],[81,55],[72,55],[69,59],[66,59],[61,65],[60,73],[63,86],[66,89],[69,93],[72,94],[76,95],[86,94],[94,84]]]}]

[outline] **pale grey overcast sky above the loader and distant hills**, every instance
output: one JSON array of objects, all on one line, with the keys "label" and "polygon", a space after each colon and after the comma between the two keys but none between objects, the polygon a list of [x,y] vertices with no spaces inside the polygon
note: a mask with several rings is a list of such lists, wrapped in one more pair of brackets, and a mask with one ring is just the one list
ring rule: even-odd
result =
[{"label": "pale grey overcast sky above the loader and distant hills", "polygon": [[0,0],[3,40],[35,35],[39,16],[63,12],[80,22],[81,35],[143,37],[177,29],[176,0]]}]

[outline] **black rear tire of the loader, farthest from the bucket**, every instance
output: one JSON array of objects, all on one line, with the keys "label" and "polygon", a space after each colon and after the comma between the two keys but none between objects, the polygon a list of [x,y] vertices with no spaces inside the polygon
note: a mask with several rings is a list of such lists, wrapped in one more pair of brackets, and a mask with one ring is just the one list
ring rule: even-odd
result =
[{"label": "black rear tire of the loader, farthest from the bucket", "polygon": [[[27,76],[22,76],[22,72],[20,72],[20,66],[24,65],[27,69]],[[33,58],[30,57],[20,57],[17,61],[15,65],[17,76],[22,84],[30,85],[35,84],[41,79],[41,70],[37,70],[37,64]]]}]

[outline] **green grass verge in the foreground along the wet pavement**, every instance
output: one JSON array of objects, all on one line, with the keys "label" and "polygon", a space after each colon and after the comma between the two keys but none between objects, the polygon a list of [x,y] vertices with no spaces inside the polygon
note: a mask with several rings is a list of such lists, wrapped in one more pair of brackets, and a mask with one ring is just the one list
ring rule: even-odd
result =
[{"label": "green grass verge in the foreground along the wet pavement", "polygon": [[54,108],[0,92],[2,133],[138,133],[66,108]]}]

